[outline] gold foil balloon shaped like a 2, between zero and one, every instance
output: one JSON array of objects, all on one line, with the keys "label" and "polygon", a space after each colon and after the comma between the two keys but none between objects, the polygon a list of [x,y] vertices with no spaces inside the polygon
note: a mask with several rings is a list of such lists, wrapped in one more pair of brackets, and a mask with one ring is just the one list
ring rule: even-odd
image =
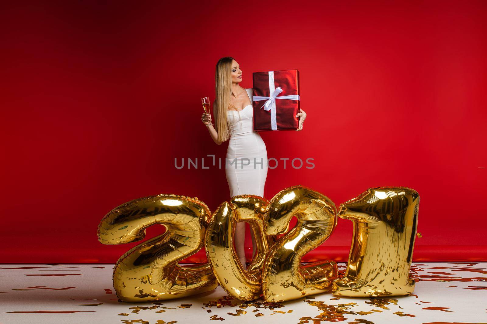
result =
[{"label": "gold foil balloon shaped like a 2, between zero and one", "polygon": [[335,204],[310,188],[294,186],[281,190],[266,207],[264,231],[277,235],[296,227],[269,250],[262,269],[262,292],[266,302],[282,302],[328,292],[337,278],[337,264],[324,260],[301,265],[301,257],[317,248],[337,225]]}]

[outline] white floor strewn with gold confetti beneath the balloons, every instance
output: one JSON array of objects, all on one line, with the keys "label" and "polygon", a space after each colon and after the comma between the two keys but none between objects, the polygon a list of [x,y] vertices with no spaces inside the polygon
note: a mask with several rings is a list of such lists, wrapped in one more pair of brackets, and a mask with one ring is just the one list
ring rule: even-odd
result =
[{"label": "white floor strewn with gold confetti beneath the balloons", "polygon": [[[345,269],[344,264],[339,266]],[[337,299],[320,294],[273,309],[262,301],[244,305],[225,299],[217,307],[217,300],[226,296],[221,287],[203,296],[163,303],[119,303],[113,293],[112,268],[111,264],[0,264],[0,324],[487,323],[487,263],[415,263],[411,275],[419,279],[417,297]],[[51,313],[32,313],[36,311]]]}]

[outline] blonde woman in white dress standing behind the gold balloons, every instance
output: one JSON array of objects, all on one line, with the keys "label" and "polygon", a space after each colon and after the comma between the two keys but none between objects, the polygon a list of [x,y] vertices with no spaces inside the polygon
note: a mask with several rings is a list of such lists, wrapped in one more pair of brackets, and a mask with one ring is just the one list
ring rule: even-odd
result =
[{"label": "blonde woman in white dress standing behind the gold balloons", "polygon": [[[225,173],[230,197],[244,194],[264,196],[267,177],[267,150],[259,133],[253,130],[252,89],[244,89],[242,69],[231,57],[221,58],[215,71],[215,95],[213,111],[216,130],[211,123],[211,115],[204,113],[201,120],[208,128],[211,138],[218,145],[227,139]],[[302,130],[306,113],[301,112],[299,127]],[[245,268],[245,223],[240,222],[235,228],[235,249],[240,263]],[[253,253],[255,243],[252,238]]]}]

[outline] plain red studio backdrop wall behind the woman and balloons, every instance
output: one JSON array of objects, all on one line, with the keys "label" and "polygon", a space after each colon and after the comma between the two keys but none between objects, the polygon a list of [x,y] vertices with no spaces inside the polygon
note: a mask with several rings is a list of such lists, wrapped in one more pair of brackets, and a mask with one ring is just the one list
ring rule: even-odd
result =
[{"label": "plain red studio backdrop wall behind the woman and balloons", "polygon": [[[301,184],[339,205],[410,187],[414,260],[487,261],[486,1],[45,2],[1,5],[1,262],[115,262],[135,243],[98,242],[113,207],[228,199],[224,169],[174,167],[225,158],[200,98],[227,55],[244,87],[300,70],[303,131],[261,135],[269,158],[316,167],[269,169],[265,198]],[[339,220],[315,256],[346,260],[351,230]]]}]

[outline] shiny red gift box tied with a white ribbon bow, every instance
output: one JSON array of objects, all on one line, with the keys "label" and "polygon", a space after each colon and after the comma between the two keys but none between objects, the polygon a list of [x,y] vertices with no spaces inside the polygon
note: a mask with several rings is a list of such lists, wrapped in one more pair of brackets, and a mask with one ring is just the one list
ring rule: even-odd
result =
[{"label": "shiny red gift box tied with a white ribbon bow", "polygon": [[300,72],[254,72],[254,131],[297,130],[300,112]]}]

